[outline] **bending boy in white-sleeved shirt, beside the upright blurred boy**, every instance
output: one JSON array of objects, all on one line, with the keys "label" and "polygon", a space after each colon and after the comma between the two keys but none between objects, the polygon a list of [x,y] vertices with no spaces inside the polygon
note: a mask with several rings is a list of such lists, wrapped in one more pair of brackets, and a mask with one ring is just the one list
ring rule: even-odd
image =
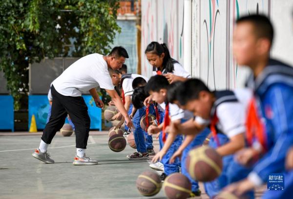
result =
[{"label": "bending boy in white-sleeved shirt, beside the upright blurred boy", "polygon": [[179,104],[191,111],[194,120],[169,129],[171,134],[201,134],[209,127],[213,136],[209,147],[222,156],[223,169],[219,177],[205,182],[206,193],[210,198],[218,195],[228,183],[228,169],[233,154],[245,146],[245,102],[247,89],[221,90],[211,92],[199,79],[190,79],[176,89]]}]

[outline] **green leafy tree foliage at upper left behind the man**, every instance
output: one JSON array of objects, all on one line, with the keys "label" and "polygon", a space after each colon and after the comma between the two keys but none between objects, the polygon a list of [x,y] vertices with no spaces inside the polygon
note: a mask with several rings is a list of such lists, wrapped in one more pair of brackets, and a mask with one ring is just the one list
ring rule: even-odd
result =
[{"label": "green leafy tree foliage at upper left behind the man", "polygon": [[107,53],[118,8],[118,0],[1,0],[0,70],[15,109],[28,93],[29,64],[68,56],[71,43],[71,56]]}]

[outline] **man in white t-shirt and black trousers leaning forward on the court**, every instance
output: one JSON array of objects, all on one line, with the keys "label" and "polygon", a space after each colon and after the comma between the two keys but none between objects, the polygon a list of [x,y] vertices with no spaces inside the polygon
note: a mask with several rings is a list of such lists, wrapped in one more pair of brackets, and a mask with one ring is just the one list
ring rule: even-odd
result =
[{"label": "man in white t-shirt and black trousers leaning forward on the court", "polygon": [[65,118],[69,114],[75,125],[76,135],[77,155],[74,158],[73,164],[98,164],[98,161],[85,156],[90,118],[84,98],[82,97],[82,91],[89,91],[96,106],[103,108],[104,103],[95,89],[98,86],[104,88],[110,95],[118,110],[125,117],[126,125],[129,128],[133,127],[120,97],[114,90],[108,72],[108,68],[114,70],[121,68],[126,58],[128,58],[127,51],[121,46],[114,47],[107,56],[98,53],[90,54],[73,63],[53,81],[51,86],[51,117],[43,130],[40,147],[32,154],[33,157],[45,163],[54,163],[54,160],[47,153],[47,148],[56,132],[62,128]]}]

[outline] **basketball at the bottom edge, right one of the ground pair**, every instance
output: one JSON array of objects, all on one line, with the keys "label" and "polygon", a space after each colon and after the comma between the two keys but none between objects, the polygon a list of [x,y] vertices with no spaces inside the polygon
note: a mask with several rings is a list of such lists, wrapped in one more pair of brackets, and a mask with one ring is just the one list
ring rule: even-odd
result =
[{"label": "basketball at the bottom edge, right one of the ground pair", "polygon": [[191,193],[191,183],[183,174],[174,173],[164,180],[163,190],[168,199],[187,199]]}]

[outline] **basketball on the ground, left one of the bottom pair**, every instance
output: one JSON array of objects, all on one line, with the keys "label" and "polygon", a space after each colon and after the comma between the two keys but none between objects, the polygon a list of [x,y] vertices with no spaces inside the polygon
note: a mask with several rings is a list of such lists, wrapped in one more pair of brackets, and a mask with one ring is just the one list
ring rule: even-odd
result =
[{"label": "basketball on the ground, left one of the bottom pair", "polygon": [[161,178],[153,171],[145,171],[136,180],[136,188],[143,196],[156,195],[160,192],[161,186]]}]

